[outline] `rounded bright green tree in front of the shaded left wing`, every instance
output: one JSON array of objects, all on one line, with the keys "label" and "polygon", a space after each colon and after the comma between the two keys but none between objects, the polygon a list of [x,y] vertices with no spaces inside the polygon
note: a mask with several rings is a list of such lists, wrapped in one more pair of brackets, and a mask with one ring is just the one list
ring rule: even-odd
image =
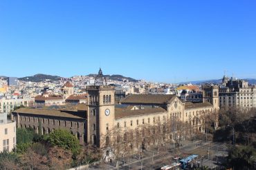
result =
[{"label": "rounded bright green tree in front of the shaded left wing", "polygon": [[80,153],[79,140],[69,131],[57,129],[52,131],[46,139],[51,145],[70,150],[74,156]]}]

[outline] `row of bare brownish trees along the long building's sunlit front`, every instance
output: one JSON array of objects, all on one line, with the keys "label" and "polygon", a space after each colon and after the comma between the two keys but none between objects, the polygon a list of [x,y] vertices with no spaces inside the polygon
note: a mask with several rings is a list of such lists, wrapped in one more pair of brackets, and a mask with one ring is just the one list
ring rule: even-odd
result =
[{"label": "row of bare brownish trees along the long building's sunlit front", "polygon": [[[118,162],[120,160],[129,160],[134,154],[139,158],[143,156],[143,150],[167,151],[179,146],[181,140],[195,140],[204,138],[203,129],[214,129],[212,125],[217,120],[217,114],[200,114],[190,117],[189,121],[181,121],[177,116],[166,118],[164,121],[157,121],[154,125],[145,123],[139,125],[136,129],[129,127],[114,127],[109,129],[103,136],[102,143],[106,153],[104,160],[109,161],[107,157],[113,153],[113,158]],[[201,131],[199,126],[202,127]],[[106,152],[107,151],[107,152]],[[111,156],[110,156],[111,157]]]}]

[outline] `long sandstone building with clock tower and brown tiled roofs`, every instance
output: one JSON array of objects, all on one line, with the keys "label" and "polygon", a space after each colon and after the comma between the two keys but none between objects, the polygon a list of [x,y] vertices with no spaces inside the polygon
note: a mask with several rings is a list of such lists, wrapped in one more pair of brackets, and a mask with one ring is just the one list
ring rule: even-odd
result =
[{"label": "long sandstone building with clock tower and brown tiled roofs", "polygon": [[[158,130],[158,134],[163,134],[165,140],[183,140],[185,138],[183,133],[185,127],[180,127],[181,124],[179,123],[187,123],[194,129],[203,132],[205,131],[204,116],[219,111],[219,91],[217,86],[205,85],[203,87],[203,103],[183,103],[177,96],[170,94],[131,94],[123,99],[120,105],[115,105],[114,87],[107,85],[101,70],[97,77],[97,82],[99,83],[98,79],[102,79],[100,85],[95,84],[86,87],[88,96],[85,108],[76,109],[75,111],[48,111],[47,109],[24,111],[19,109],[12,113],[14,119],[17,120],[17,126],[28,127],[31,120],[46,121],[45,128],[52,127],[53,120],[55,123],[65,120],[69,122],[76,121],[83,123],[82,129],[78,131],[79,138],[83,139],[80,140],[81,143],[91,143],[98,147],[106,147],[107,141],[116,140],[115,138],[110,139],[109,136],[110,131],[113,131],[113,129],[120,129],[125,139],[126,131],[129,129],[141,129],[146,125],[158,126],[161,129]],[[65,118],[63,118],[64,115]],[[22,117],[20,118],[20,116]],[[81,127],[80,123],[79,127]],[[35,125],[35,128],[38,125]],[[172,131],[165,134],[171,126],[173,127]],[[217,123],[214,123],[214,126],[217,127]],[[46,133],[55,128],[49,129]],[[66,125],[65,123],[58,124],[57,128],[66,129]],[[71,131],[73,131],[73,128]],[[151,130],[149,129],[149,131]],[[177,133],[177,131],[181,132]],[[145,138],[145,135],[142,135],[142,137]],[[136,142],[136,138],[132,142]],[[139,144],[137,142],[136,148],[138,149],[141,145],[143,143]],[[107,147],[106,156],[109,155],[108,149]]]}]

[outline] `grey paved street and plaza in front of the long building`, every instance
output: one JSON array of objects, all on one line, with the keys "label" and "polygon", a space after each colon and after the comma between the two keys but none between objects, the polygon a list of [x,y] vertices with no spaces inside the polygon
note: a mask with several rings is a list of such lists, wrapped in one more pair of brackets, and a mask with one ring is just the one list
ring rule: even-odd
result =
[{"label": "grey paved street and plaza in front of the long building", "polygon": [[[181,147],[182,144],[182,147]],[[175,162],[174,156],[199,155],[200,166],[208,166],[211,169],[219,166],[219,163],[227,156],[227,147],[219,142],[182,141],[180,147],[173,149],[173,145],[165,146],[159,153],[156,150],[143,151],[143,157],[134,155],[120,161],[119,168],[116,161],[90,165],[89,169],[160,169],[166,164]],[[153,156],[154,153],[154,156]],[[203,160],[203,161],[201,161]]]}]

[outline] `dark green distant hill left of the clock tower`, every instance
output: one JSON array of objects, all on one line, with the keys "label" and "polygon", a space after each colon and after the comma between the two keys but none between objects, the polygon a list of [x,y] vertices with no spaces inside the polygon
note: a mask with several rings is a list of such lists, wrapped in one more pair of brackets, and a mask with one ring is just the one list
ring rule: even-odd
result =
[{"label": "dark green distant hill left of the clock tower", "polygon": [[51,76],[46,74],[35,74],[34,76],[26,76],[18,78],[20,81],[33,81],[33,82],[39,82],[44,81],[46,79],[49,79],[51,81],[60,81],[60,76]]}]

